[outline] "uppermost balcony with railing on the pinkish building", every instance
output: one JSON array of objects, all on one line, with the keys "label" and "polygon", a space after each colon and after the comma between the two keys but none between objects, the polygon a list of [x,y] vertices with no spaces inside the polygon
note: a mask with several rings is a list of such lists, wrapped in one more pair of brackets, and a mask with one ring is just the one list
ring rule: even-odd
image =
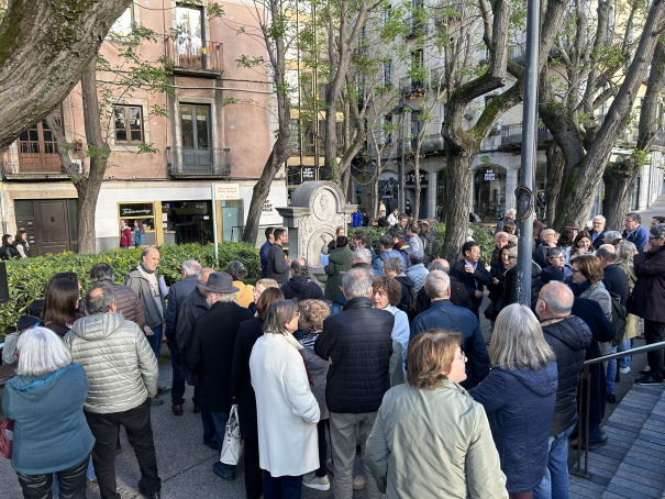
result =
[{"label": "uppermost balcony with railing on the pinkish building", "polygon": [[173,64],[174,75],[219,78],[224,73],[223,44],[200,40],[166,38],[166,56]]}]

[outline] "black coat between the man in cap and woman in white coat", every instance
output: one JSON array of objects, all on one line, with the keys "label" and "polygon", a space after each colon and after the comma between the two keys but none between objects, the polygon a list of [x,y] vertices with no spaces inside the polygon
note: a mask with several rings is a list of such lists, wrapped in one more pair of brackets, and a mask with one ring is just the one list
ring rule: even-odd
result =
[{"label": "black coat between the man in cap and woman in white coat", "polygon": [[263,336],[263,321],[258,318],[241,322],[235,339],[231,366],[231,403],[237,403],[240,434],[243,440],[258,442],[256,395],[252,387],[250,355],[254,343]]}]

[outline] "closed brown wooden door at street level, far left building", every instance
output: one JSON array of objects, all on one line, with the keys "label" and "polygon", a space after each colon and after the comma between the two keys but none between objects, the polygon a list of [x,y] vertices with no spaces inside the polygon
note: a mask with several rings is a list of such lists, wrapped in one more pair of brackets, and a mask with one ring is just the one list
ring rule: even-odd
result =
[{"label": "closed brown wooden door at street level, far left building", "polygon": [[37,200],[36,229],[40,255],[71,251],[66,199]]}]

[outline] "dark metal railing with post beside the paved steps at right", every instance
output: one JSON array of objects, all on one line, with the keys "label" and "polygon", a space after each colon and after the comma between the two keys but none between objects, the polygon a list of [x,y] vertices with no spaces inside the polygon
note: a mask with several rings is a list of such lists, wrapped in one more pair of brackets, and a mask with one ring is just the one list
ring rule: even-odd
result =
[{"label": "dark metal railing with post beside the paved steps at right", "polygon": [[[629,356],[636,355],[636,354],[645,354],[649,352],[654,352],[656,350],[665,350],[665,342],[653,343],[651,345],[645,345],[645,346],[638,346],[636,348],[627,350],[624,352],[619,352],[616,354],[605,355],[602,357],[585,361],[584,368],[583,368],[581,375],[579,377],[579,399],[577,400],[577,412],[579,414],[579,420],[577,422],[577,428],[578,428],[577,466],[576,466],[576,469],[574,469],[570,473],[573,473],[576,476],[587,478],[587,479],[591,477],[591,475],[589,474],[589,410],[590,410],[590,404],[591,404],[591,375],[589,373],[589,366],[592,366],[595,364],[600,364],[603,362],[616,361],[619,358],[629,357]],[[585,398],[585,392],[586,392],[586,410],[583,410],[583,400]],[[605,392],[602,395],[605,395]],[[583,415],[584,415],[584,419],[583,419]],[[579,445],[579,444],[581,444],[581,434],[583,434],[581,425],[583,424],[586,424],[586,432],[584,432],[584,434],[585,434],[584,472],[580,470],[581,447]]]}]

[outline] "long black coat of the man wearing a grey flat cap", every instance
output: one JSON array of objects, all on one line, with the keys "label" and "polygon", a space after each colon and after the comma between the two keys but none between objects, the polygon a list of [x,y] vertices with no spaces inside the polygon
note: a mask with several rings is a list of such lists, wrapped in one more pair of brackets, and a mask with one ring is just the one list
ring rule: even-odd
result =
[{"label": "long black coat of the man wearing a grey flat cap", "polygon": [[231,365],[240,323],[252,312],[235,302],[214,303],[199,317],[191,331],[187,367],[199,375],[199,402],[204,411],[231,410]]}]

